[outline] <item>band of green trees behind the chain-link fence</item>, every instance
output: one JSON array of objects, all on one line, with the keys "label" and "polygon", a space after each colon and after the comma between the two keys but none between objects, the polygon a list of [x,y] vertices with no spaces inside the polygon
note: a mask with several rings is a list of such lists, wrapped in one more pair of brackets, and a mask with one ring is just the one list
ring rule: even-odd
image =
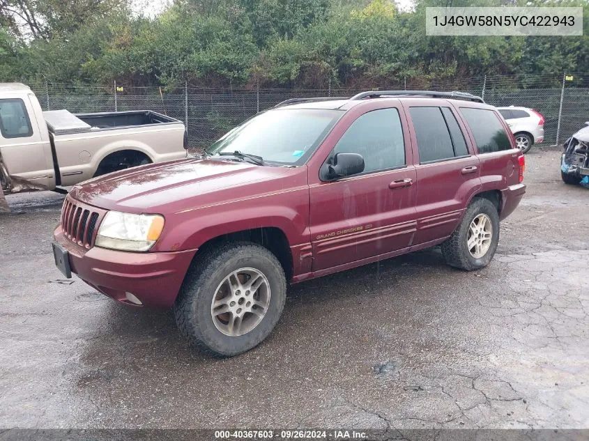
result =
[{"label": "band of green trees behind the chain-link fence", "polygon": [[[176,0],[151,18],[126,1],[0,0],[0,79],[371,88],[406,77],[424,88],[521,72],[558,83],[563,70],[589,71],[585,0],[416,0],[411,12],[391,0]],[[583,6],[584,35],[425,35],[427,6],[528,3]]]}]

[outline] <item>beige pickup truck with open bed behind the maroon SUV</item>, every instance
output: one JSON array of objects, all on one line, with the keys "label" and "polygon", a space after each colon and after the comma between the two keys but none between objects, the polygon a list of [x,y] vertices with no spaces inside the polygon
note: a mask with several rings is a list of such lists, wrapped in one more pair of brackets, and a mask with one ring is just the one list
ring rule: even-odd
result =
[{"label": "beige pickup truck with open bed behind the maroon SUV", "polygon": [[3,194],[65,192],[59,187],[186,157],[187,142],[181,121],[153,111],[44,112],[28,86],[0,83],[0,206]]}]

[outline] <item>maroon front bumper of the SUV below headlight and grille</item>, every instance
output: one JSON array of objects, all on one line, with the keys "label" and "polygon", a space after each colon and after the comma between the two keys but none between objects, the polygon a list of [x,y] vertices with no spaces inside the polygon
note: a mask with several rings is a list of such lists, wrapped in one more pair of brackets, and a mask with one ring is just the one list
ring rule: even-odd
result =
[{"label": "maroon front bumper of the SUV below headlight and grille", "polygon": [[[133,253],[93,247],[85,249],[63,235],[54,238],[69,254],[73,273],[100,293],[118,302],[170,308],[188,271],[196,249],[168,253]],[[132,296],[128,295],[132,294]]]}]

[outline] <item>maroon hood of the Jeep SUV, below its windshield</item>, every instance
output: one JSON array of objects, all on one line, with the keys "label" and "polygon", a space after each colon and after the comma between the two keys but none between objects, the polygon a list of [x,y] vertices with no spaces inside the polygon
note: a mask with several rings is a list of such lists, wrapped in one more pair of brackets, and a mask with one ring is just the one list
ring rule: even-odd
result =
[{"label": "maroon hood of the Jeep SUV, below its windshield", "polygon": [[199,204],[219,200],[215,192],[261,183],[284,176],[285,167],[261,167],[247,162],[188,159],[149,164],[100,176],[72,188],[74,199],[107,210],[158,212],[185,208],[185,201],[201,196]]}]

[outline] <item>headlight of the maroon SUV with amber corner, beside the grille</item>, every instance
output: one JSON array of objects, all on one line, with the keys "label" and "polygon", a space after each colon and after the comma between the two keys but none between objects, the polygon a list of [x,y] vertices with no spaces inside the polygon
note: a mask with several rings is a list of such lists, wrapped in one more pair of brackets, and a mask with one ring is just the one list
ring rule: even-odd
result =
[{"label": "headlight of the maroon SUV with amber corner, beside the grille", "polygon": [[160,238],[162,229],[163,216],[109,211],[102,219],[95,245],[123,251],[148,251]]}]

